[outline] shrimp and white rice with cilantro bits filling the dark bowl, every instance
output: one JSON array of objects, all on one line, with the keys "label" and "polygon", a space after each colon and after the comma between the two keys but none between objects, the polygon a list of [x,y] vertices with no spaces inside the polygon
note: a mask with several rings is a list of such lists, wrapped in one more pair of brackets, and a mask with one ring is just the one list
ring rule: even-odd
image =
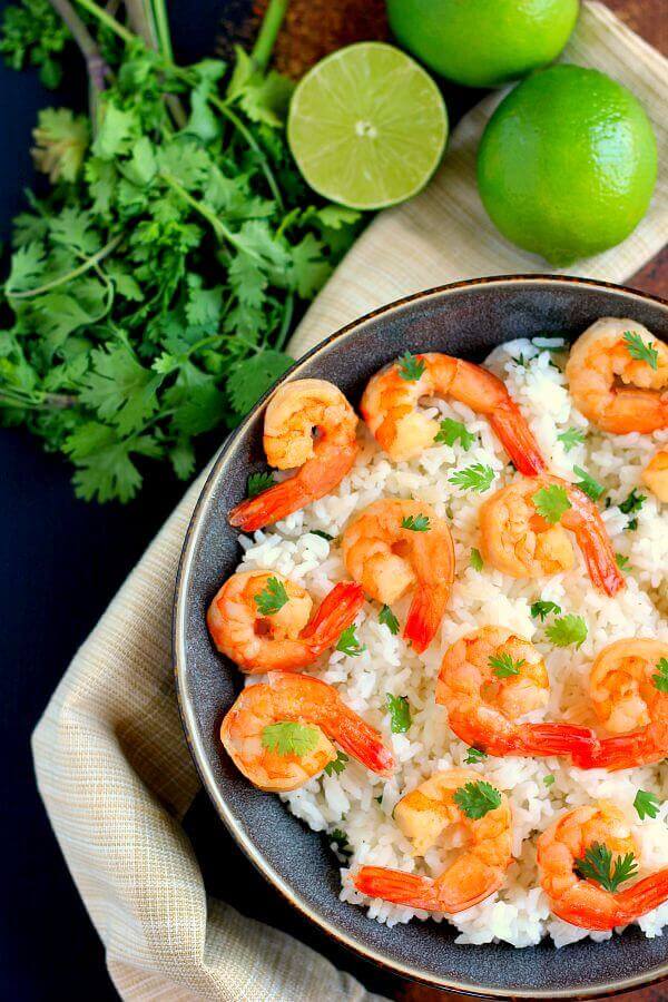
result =
[{"label": "shrimp and white rice with cilantro bits filling the dark bowl", "polygon": [[[522,947],[605,940],[630,923],[651,937],[668,924],[668,747],[657,752],[668,741],[657,459],[668,450],[668,356],[632,321],[599,324],[612,324],[616,344],[629,328],[654,344],[660,373],[632,353],[623,372],[629,358],[613,352],[587,357],[581,372],[563,338],[534,337],[491,353],[484,371],[508,399],[490,383],[477,401],[465,371],[462,392],[450,370],[431,379],[448,356],[406,356],[392,377],[411,390],[411,407],[406,394],[387,404],[392,387],[370,384],[356,431],[345,399],[330,394],[317,414],[301,414],[284,384],[274,400],[297,434],[335,410],[322,445],[328,472],[308,449],[279,455],[278,434],[267,456],[286,472],[265,490],[265,518],[262,492],[232,512],[243,556],[208,625],[247,678],[223,744],[255,785],[326,833],[341,898],[389,926],[431,918],[452,923],[458,943]],[[431,381],[418,394],[424,365]],[[611,374],[638,387],[623,413],[601,399]],[[303,463],[310,472],[288,487]],[[522,513],[524,497],[538,513]],[[650,642],[647,664],[636,641]],[[615,644],[613,680],[601,669],[596,689],[592,666]],[[619,668],[627,661],[636,682]],[[664,661],[666,688],[650,694]],[[276,720],[321,728],[289,769]],[[578,845],[590,867],[597,846],[609,845],[615,865],[626,858],[630,890],[586,880]],[[597,926],[599,908],[610,911]]]}]

